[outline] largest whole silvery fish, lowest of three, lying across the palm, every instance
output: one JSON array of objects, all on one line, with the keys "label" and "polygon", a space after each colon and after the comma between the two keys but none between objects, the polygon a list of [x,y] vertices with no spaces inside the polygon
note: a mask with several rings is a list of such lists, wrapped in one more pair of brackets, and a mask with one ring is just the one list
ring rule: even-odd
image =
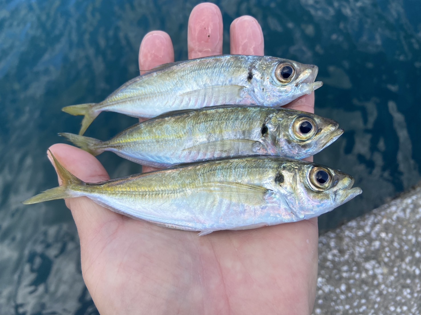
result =
[{"label": "largest whole silvery fish, lowest of three, lying across the palm", "polygon": [[51,156],[63,185],[24,204],[86,196],[116,213],[199,235],[317,217],[362,193],[346,173],[284,157],[226,158],[85,183]]}]

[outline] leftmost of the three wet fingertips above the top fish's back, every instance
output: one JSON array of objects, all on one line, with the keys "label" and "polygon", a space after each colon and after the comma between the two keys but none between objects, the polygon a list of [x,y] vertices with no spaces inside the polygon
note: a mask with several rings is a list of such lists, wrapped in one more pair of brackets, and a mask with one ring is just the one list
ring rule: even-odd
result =
[{"label": "leftmost of the three wet fingertips above the top fish's back", "polygon": [[170,35],[162,31],[146,34],[139,49],[140,74],[169,62],[174,62],[174,47]]}]

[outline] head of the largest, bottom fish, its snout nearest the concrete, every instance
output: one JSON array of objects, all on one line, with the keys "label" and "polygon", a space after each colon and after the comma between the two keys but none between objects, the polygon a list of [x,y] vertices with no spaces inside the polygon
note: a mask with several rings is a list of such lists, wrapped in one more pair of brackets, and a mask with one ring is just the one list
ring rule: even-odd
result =
[{"label": "head of the largest, bottom fish, its snout nearest the concrete", "polygon": [[290,160],[278,172],[274,181],[293,214],[292,221],[317,217],[362,193],[360,187],[352,187],[352,176],[323,165]]}]

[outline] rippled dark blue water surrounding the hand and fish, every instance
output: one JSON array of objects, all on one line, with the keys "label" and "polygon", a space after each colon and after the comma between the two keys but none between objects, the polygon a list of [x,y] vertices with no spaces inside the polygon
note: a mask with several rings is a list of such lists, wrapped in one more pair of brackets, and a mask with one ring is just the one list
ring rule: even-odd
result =
[{"label": "rippled dark blue water surrounding the hand and fish", "polygon": [[[23,206],[56,186],[45,151],[79,130],[67,105],[97,102],[138,75],[142,37],[162,29],[187,58],[187,20],[198,1],[0,0],[0,313],[95,314],[80,271],[77,231],[63,201]],[[319,66],[316,113],[345,133],[315,161],[352,174],[363,194],[319,218],[322,231],[420,181],[421,2],[215,2],[229,24],[261,23],[266,55]],[[136,120],[102,113],[86,135],[108,139]],[[139,165],[104,153],[111,177]]]}]

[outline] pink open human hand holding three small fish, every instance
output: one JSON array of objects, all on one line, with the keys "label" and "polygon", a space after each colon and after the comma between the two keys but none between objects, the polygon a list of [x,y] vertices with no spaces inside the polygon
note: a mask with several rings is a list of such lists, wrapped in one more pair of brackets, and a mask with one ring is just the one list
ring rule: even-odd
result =
[{"label": "pink open human hand holding three small fish", "polygon": [[[216,5],[197,5],[188,29],[189,58],[222,53]],[[230,37],[231,53],[263,55],[263,34],[254,18],[234,20]],[[168,34],[148,33],[140,69],[172,61]],[[314,96],[286,107],[312,112]],[[50,150],[83,181],[109,179],[83,150],[66,144]],[[125,217],[87,197],[66,199],[66,205],[80,237],[83,278],[101,314],[306,314],[313,308],[317,219],[197,236]]]}]

